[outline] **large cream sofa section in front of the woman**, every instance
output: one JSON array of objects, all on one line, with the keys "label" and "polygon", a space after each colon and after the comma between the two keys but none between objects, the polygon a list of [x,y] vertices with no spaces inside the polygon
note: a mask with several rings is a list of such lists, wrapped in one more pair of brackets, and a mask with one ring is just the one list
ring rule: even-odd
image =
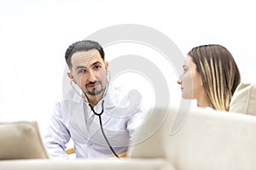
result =
[{"label": "large cream sofa section in front of the woman", "polygon": [[166,158],[179,170],[256,169],[256,116],[196,108],[171,133],[177,109],[164,122],[158,121],[162,111],[156,108],[137,130],[128,157]]}]

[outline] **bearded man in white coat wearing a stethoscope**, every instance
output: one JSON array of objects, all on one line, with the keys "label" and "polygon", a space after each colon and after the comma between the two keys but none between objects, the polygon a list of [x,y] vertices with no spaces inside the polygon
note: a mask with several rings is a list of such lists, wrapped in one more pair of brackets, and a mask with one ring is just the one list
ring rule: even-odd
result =
[{"label": "bearded man in white coat wearing a stethoscope", "polygon": [[108,62],[98,42],[74,42],[67,48],[65,59],[73,89],[55,105],[44,138],[49,156],[67,159],[65,149],[70,139],[77,158],[104,158],[125,152],[142,121],[141,99],[131,102],[131,96],[109,86]]}]

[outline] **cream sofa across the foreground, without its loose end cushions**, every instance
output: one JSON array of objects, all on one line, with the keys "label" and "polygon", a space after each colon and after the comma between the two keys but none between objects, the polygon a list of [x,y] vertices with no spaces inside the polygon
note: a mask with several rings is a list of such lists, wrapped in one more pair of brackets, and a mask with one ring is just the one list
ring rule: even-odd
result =
[{"label": "cream sofa across the foreground, without its loose end cushions", "polygon": [[[252,90],[252,88],[250,89]],[[248,99],[247,95],[238,96],[241,100],[244,96]],[[236,96],[234,97],[236,99]],[[233,105],[236,102],[232,101],[231,103]],[[248,106],[251,108],[250,111],[253,111],[253,106]],[[236,110],[236,107],[233,106],[230,107],[231,112],[213,111],[211,109],[191,109],[187,111],[183,107],[180,109],[169,108],[166,111],[162,108],[155,108],[154,111],[149,112],[143,126],[137,129],[135,139],[131,142],[125,158],[75,161],[49,160],[47,156],[44,156],[44,146],[39,141],[37,142],[39,144],[38,148],[43,148],[40,149],[43,152],[41,157],[37,157],[37,155],[35,157],[30,156],[30,159],[21,157],[22,160],[14,160],[19,158],[17,157],[19,154],[16,153],[12,159],[3,160],[5,155],[2,154],[3,157],[0,155],[0,159],[3,160],[0,161],[0,170],[256,169],[256,116],[236,113],[239,110]],[[177,120],[177,111],[180,111],[179,114],[187,116],[185,119],[179,120],[179,122],[183,122],[182,127],[176,133],[171,133],[173,122]],[[1,130],[3,133],[6,129],[2,129],[0,126],[0,133]],[[36,140],[38,141],[38,139]],[[3,144],[1,145],[3,147]],[[0,148],[0,150],[2,149]]]}]

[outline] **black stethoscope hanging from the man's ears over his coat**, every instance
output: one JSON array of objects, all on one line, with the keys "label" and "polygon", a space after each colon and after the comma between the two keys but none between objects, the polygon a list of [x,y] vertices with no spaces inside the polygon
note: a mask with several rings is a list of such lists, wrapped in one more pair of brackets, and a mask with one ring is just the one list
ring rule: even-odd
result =
[{"label": "black stethoscope hanging from the man's ears over his coat", "polygon": [[[72,82],[73,82],[73,80],[70,81],[70,85],[72,86],[72,88],[74,89],[74,91],[75,91],[77,94],[79,94],[79,92],[76,90],[76,88],[74,88]],[[118,156],[118,155],[115,153],[115,151],[113,150],[112,145],[109,143],[108,138],[107,138],[107,136],[106,136],[106,134],[105,134],[105,132],[104,132],[104,130],[103,130],[103,126],[102,126],[102,113],[104,112],[104,98],[105,98],[105,95],[107,94],[107,91],[108,91],[108,81],[107,81],[106,91],[105,91],[105,94],[103,95],[103,99],[102,99],[102,111],[100,111],[100,112],[96,112],[96,111],[94,110],[94,108],[93,108],[94,106],[93,106],[92,104],[90,104],[90,102],[87,102],[81,94],[79,94],[79,96],[83,99],[84,104],[85,104],[85,105],[86,105],[86,104],[89,104],[90,110],[91,110],[96,116],[99,116],[99,121],[100,121],[101,130],[102,130],[102,135],[103,135],[104,139],[106,140],[109,149],[113,152],[113,155],[116,156],[117,158],[119,158],[119,156]],[[84,94],[84,95],[86,96],[86,94]]]}]

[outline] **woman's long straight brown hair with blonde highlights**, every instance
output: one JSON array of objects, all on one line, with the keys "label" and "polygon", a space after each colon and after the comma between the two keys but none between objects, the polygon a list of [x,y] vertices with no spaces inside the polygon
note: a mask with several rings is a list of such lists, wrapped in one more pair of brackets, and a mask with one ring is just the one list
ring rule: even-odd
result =
[{"label": "woman's long straight brown hair with blonde highlights", "polygon": [[188,54],[201,75],[207,102],[215,110],[229,111],[230,99],[241,82],[236,61],[218,44],[192,48]]}]

